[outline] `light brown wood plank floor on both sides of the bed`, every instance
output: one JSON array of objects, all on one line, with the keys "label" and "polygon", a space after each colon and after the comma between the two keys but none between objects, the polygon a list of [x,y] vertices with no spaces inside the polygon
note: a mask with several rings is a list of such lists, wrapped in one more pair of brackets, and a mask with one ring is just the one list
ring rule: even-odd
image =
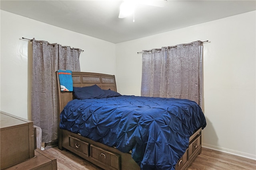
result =
[{"label": "light brown wood plank floor on both sides of the bed", "polygon": [[[58,170],[102,170],[80,156],[57,147],[44,150],[57,158]],[[256,160],[202,148],[187,170],[256,170]]]}]

